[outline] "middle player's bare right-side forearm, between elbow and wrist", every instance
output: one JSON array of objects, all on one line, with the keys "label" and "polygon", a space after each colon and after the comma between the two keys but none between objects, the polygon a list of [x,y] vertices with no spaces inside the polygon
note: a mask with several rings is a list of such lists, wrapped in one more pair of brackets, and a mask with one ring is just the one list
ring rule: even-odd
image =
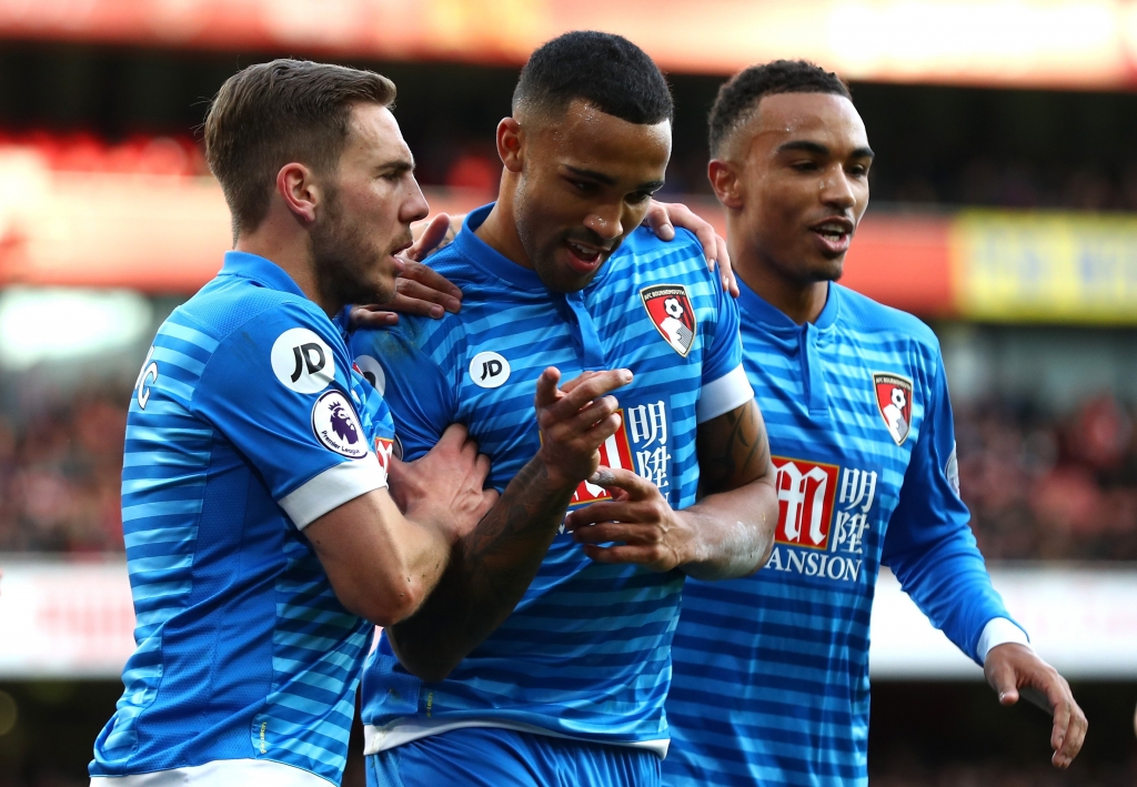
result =
[{"label": "middle player's bare right-side forearm, between elbow and wrist", "polygon": [[679,512],[691,541],[680,569],[696,579],[746,577],[765,565],[778,522],[778,495],[767,478],[703,498]]}]

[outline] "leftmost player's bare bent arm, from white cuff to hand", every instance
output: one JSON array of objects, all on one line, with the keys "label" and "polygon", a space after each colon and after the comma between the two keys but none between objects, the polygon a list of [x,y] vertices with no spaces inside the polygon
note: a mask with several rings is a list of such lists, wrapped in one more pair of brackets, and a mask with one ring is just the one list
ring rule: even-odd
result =
[{"label": "leftmost player's bare bent arm, from white cuff to hand", "polygon": [[430,494],[402,490],[409,500],[405,515],[387,489],[375,489],[305,528],[335,597],[377,626],[392,626],[422,605],[451,547],[497,500],[496,491],[482,490],[489,459],[478,454],[465,426],[450,426],[415,464],[417,475],[391,459],[392,481],[430,479]]}]

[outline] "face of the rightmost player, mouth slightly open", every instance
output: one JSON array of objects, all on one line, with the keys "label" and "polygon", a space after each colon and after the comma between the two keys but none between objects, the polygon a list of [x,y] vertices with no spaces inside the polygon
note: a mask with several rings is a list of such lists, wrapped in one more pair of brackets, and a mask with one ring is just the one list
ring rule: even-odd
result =
[{"label": "face of the rightmost player, mouth slightly open", "polygon": [[869,206],[872,165],[853,102],[829,93],[766,96],[721,152],[738,167],[745,242],[758,257],[800,283],[840,277]]}]

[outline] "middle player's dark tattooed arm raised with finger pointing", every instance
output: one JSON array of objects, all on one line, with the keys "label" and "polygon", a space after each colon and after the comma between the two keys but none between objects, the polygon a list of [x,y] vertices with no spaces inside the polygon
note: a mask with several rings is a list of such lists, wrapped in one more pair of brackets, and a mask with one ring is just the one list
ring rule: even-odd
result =
[{"label": "middle player's dark tattooed arm raised with finger pointing", "polygon": [[[541,448],[509,482],[479,525],[459,540],[438,589],[422,610],[388,629],[402,665],[438,681],[505,622],[529,588],[598,449],[620,425],[611,391],[631,372],[586,372],[563,388],[546,370],[537,382]],[[392,479],[398,483],[397,479]]]}]

